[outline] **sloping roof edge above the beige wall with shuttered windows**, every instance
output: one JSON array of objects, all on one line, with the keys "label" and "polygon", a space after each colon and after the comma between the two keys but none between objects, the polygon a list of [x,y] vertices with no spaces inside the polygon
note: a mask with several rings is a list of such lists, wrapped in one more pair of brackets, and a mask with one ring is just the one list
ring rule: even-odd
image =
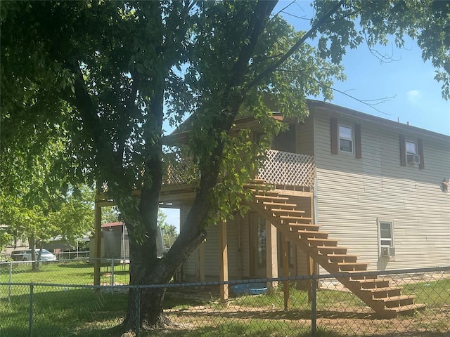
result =
[{"label": "sloping roof edge above the beige wall with shuttered windows", "polygon": [[[365,114],[364,112],[359,112],[356,110],[348,109],[347,107],[341,107],[340,105],[335,105],[332,103],[323,102],[320,100],[307,100],[309,110],[313,112],[320,112],[320,110],[325,110],[326,112],[330,112],[331,114],[348,117],[352,119],[357,119],[359,121],[369,121],[375,124],[381,124],[385,126],[389,126],[390,128],[396,128],[401,131],[419,133],[421,135],[426,135],[432,138],[437,138],[440,140],[446,140],[450,142],[450,136],[446,136],[442,133],[437,133],[434,131],[425,130],[425,128],[418,128],[416,126],[411,126],[409,124],[403,124],[398,121],[390,121],[389,119],[384,119],[381,117],[376,117],[371,114]],[[318,111],[319,109],[319,111]]]}]

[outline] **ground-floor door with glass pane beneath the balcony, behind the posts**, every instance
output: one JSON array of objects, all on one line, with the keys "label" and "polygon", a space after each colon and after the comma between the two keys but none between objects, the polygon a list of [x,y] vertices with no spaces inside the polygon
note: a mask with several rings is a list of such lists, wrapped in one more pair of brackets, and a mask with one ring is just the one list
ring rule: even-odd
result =
[{"label": "ground-floor door with glass pane beneath the balcony, behind the posts", "polygon": [[266,219],[250,214],[250,277],[266,277]]}]

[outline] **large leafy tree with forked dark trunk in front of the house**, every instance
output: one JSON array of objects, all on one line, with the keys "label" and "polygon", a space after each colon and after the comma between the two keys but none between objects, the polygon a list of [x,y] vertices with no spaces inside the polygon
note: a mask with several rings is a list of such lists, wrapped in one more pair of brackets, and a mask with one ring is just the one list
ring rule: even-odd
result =
[{"label": "large leafy tree with forked dark trunk in front of the house", "polygon": [[[306,114],[306,95],[331,98],[332,78],[344,76],[324,58],[331,55],[338,64],[344,50],[321,41],[321,58],[307,39],[323,27],[330,41],[356,46],[361,34],[349,29],[349,22],[361,11],[355,14],[351,8],[364,7],[368,18],[383,17],[390,9],[380,8],[378,1],[318,1],[319,17],[311,30],[295,32],[272,13],[276,2],[2,4],[1,122],[25,133],[44,129],[70,136],[71,158],[78,164],[73,173],[107,186],[127,225],[131,284],[169,282],[205,239],[217,212],[224,216],[238,206],[222,201],[239,200],[260,149],[250,142],[248,131],[230,136],[236,117],[252,115],[276,132],[279,126],[269,123],[264,95],[274,96],[283,114],[300,119]],[[432,6],[432,1],[423,2]],[[405,25],[428,27],[418,19]],[[383,20],[373,25],[382,26]],[[392,32],[400,30],[394,25],[373,29],[381,38]],[[434,55],[432,48],[430,53]],[[41,108],[32,109],[38,103]],[[162,124],[167,119],[176,125],[186,114],[191,115],[188,152],[200,171],[198,192],[172,249],[158,259]],[[2,133],[1,141],[12,136]],[[14,146],[8,144],[11,153]],[[248,154],[244,163],[242,152]],[[140,199],[132,195],[136,189]],[[164,290],[144,290],[141,296],[141,326],[165,324]],[[127,329],[134,327],[135,300],[131,291]]]}]

